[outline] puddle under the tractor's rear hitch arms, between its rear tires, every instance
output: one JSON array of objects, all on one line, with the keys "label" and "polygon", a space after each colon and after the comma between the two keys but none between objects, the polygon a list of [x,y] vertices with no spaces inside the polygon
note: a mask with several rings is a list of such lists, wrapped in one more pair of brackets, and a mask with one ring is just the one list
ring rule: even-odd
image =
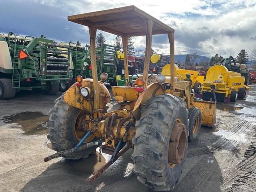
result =
[{"label": "puddle under the tractor's rear hitch arms, between its rear tires", "polygon": [[96,154],[91,154],[86,159],[65,160],[65,162],[77,172],[92,174],[94,171],[99,170],[102,166],[104,166],[111,158],[111,155],[102,153],[101,162],[99,162],[98,149],[99,148],[96,150]]}]

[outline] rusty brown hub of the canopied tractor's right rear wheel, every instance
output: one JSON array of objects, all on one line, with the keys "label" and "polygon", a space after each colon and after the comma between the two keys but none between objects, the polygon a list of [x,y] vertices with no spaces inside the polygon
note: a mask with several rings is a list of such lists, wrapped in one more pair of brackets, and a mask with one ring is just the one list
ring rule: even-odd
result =
[{"label": "rusty brown hub of the canopied tractor's right rear wheel", "polygon": [[180,164],[182,162],[185,156],[187,136],[186,125],[181,122],[175,122],[168,151],[168,163],[170,167],[173,167],[173,164]]}]

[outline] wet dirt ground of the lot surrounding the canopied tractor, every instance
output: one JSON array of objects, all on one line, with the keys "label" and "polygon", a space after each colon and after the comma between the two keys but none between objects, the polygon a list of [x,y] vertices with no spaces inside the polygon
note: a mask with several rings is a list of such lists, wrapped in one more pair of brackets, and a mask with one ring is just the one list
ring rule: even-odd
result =
[{"label": "wet dirt ground of the lot surrounding the canopied tractor", "polygon": [[[0,192],[149,192],[132,172],[132,149],[94,183],[86,182],[97,155],[88,160],[57,158],[46,138],[54,96],[24,90],[0,100]],[[202,127],[190,142],[174,192],[256,191],[256,85],[246,100],[218,103],[214,128]],[[105,156],[108,158],[107,156]]]}]

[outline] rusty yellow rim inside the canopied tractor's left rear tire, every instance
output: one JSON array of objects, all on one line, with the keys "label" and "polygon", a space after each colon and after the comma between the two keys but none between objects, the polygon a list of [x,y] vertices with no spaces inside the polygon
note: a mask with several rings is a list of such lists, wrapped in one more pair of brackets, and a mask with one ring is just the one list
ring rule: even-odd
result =
[{"label": "rusty yellow rim inside the canopied tractor's left rear tire", "polygon": [[[87,128],[86,126],[88,126],[88,124],[86,124],[86,120],[85,120],[85,116],[84,116],[84,111],[80,111],[80,113],[78,114],[78,116],[76,117],[76,122],[74,124],[74,132],[76,135],[76,138],[80,141],[85,134],[88,132],[85,129]],[[83,131],[84,130],[84,131]],[[92,141],[95,138],[94,134],[90,134],[86,140],[84,140],[84,143],[88,143],[90,141]]]}]

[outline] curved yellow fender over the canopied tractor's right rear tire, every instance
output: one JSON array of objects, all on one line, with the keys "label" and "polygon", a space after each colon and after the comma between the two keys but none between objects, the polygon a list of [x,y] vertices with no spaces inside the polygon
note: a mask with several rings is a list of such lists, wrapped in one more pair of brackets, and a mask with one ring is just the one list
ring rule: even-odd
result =
[{"label": "curved yellow fender over the canopied tractor's right rear tire", "polygon": [[138,100],[135,103],[132,114],[136,120],[140,119],[140,106],[145,105],[147,101],[157,95],[164,94],[164,88],[160,83],[150,84],[143,92],[140,94]]}]

